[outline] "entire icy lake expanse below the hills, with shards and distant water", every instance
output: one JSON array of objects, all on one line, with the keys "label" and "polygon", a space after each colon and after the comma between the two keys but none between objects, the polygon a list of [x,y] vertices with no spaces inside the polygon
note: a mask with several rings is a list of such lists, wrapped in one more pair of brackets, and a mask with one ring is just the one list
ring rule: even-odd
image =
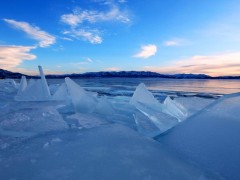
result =
[{"label": "entire icy lake expanse below the hills, with shards and distant water", "polygon": [[240,178],[238,80],[22,82],[0,80],[0,179]]}]

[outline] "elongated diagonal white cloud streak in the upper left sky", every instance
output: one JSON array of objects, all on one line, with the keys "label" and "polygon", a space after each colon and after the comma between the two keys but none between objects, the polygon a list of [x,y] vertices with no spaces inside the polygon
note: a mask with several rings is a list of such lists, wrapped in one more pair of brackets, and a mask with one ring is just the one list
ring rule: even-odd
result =
[{"label": "elongated diagonal white cloud streak in the upper left sky", "polygon": [[12,19],[3,19],[13,27],[25,32],[30,38],[39,42],[40,47],[48,47],[56,42],[56,38],[45,31],[42,31],[37,26],[32,26],[27,22],[15,21]]}]

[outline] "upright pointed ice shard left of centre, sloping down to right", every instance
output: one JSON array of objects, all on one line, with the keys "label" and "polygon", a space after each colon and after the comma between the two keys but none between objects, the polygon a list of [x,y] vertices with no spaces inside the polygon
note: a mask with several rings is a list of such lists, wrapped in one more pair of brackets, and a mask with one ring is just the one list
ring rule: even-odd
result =
[{"label": "upright pointed ice shard left of centre, sloping down to right", "polygon": [[70,78],[65,78],[65,82],[75,111],[80,113],[93,112],[97,100]]}]

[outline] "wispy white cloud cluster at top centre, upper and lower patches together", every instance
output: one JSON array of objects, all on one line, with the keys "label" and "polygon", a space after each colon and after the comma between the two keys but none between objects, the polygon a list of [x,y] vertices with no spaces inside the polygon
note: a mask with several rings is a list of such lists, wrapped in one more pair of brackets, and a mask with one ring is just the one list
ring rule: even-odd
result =
[{"label": "wispy white cloud cluster at top centre, upper and lower patches together", "polygon": [[69,26],[68,30],[63,31],[76,39],[83,39],[92,44],[101,44],[103,41],[100,23],[119,22],[129,23],[130,17],[127,10],[120,9],[115,1],[95,1],[108,6],[107,11],[88,10],[75,8],[71,13],[63,14],[60,21]]}]

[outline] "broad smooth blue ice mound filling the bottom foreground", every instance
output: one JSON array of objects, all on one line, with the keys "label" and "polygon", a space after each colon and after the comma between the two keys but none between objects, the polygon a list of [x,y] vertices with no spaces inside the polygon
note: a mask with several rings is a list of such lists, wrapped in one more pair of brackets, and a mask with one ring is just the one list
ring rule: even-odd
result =
[{"label": "broad smooth blue ice mound filling the bottom foreground", "polygon": [[0,158],[3,179],[218,178],[117,124],[38,136]]}]

